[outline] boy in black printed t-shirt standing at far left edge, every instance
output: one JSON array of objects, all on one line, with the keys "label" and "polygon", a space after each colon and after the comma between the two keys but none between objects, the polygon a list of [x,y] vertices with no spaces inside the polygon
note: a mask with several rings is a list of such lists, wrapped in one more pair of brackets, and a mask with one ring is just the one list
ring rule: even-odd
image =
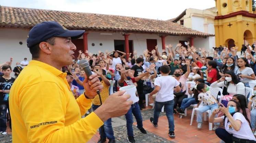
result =
[{"label": "boy in black printed t-shirt standing at far left edge", "polygon": [[14,78],[10,76],[12,72],[12,68],[9,65],[4,65],[2,67],[3,70],[3,76],[0,77],[0,135],[1,136],[6,136],[7,132],[6,131],[6,122],[7,122],[7,117],[6,117],[6,112],[8,108],[9,112],[9,118],[10,118],[10,128],[12,129],[12,124],[11,124],[11,116],[10,116],[10,109],[9,109],[9,93],[11,86],[14,82]]}]

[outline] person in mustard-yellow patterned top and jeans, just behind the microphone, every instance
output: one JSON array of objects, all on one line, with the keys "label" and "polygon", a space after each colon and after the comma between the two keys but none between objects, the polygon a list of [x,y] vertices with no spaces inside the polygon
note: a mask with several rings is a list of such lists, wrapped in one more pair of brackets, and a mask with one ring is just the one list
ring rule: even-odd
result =
[{"label": "person in mustard-yellow patterned top and jeans, just behind the microphone", "polygon": [[[102,69],[100,65],[94,66],[94,72],[98,75],[98,78],[103,85],[103,89],[100,92],[101,102],[104,103],[106,99],[109,97],[109,86],[110,81],[105,77],[106,70]],[[100,99],[99,96],[95,96],[93,100],[93,110],[95,111],[100,107]],[[103,130],[103,131],[102,131]],[[106,138],[109,139],[108,143],[115,143],[114,131],[111,124],[111,118],[104,122],[103,129],[102,126],[99,128],[100,139],[98,143],[106,142]]]}]

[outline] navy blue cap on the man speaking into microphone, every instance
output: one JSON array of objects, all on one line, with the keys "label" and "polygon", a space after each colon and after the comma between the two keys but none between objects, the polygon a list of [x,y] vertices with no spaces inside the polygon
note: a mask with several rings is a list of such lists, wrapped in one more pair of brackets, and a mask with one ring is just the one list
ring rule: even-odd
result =
[{"label": "navy blue cap on the man speaking into microphone", "polygon": [[35,25],[28,33],[27,47],[31,48],[51,37],[71,37],[77,39],[84,34],[84,30],[68,30],[56,21],[44,21]]}]

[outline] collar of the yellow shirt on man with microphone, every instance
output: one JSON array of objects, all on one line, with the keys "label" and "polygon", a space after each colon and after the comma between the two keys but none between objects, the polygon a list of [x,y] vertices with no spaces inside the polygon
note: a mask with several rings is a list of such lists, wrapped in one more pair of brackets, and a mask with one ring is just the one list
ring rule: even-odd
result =
[{"label": "collar of the yellow shirt on man with microphone", "polygon": [[48,70],[49,72],[51,72],[52,74],[56,75],[56,76],[60,76],[62,78],[66,77],[66,73],[63,73],[61,72],[59,69],[51,66],[51,65],[48,65],[44,62],[40,62],[40,61],[37,61],[37,60],[31,60],[29,61],[28,63],[28,66],[29,65],[37,65],[37,66],[40,66],[46,70]]}]

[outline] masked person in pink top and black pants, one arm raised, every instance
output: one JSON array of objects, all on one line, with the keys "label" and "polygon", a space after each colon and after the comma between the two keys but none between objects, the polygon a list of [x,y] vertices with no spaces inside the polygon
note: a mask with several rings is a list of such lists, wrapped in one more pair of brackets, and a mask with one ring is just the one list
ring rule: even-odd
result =
[{"label": "masked person in pink top and black pants, one arm raised", "polygon": [[180,82],[181,91],[177,93],[173,93],[174,96],[174,106],[173,106],[173,113],[175,114],[176,107],[181,107],[182,100],[184,98],[187,98],[186,94],[186,81],[188,78],[188,75],[190,73],[190,60],[186,59],[186,66],[187,66],[187,72],[184,75],[181,75],[181,69],[175,69],[174,71],[174,78]]}]

